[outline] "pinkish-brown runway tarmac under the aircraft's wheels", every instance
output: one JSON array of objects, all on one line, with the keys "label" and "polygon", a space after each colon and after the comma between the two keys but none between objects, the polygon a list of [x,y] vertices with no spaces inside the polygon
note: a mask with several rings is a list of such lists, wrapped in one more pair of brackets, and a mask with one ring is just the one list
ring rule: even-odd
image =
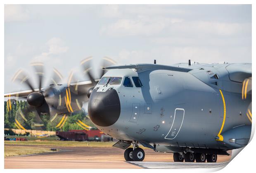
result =
[{"label": "pinkish-brown runway tarmac under the aircraft's wheels", "polygon": [[[17,147],[19,146],[17,145]],[[41,147],[49,148],[49,146]],[[5,157],[5,168],[197,168],[198,165],[204,168],[207,165],[207,163],[173,163],[173,154],[154,152],[151,149],[145,150],[143,162],[126,162],[123,158],[124,150],[115,147],[55,146],[52,148],[57,148],[60,151],[29,156]],[[218,155],[218,162],[229,161],[230,157]],[[218,165],[223,165],[223,163],[216,166]],[[214,165],[212,164],[211,166]]]}]

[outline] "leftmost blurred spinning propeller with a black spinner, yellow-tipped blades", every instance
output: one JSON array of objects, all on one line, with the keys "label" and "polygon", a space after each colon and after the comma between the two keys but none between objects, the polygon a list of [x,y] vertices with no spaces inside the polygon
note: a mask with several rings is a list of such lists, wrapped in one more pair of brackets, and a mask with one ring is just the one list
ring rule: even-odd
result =
[{"label": "leftmost blurred spinning propeller with a black spinner, yellow-tipped blades", "polygon": [[[38,89],[35,89],[31,84],[30,78],[24,72],[24,70],[18,70],[14,75],[12,81],[19,81],[21,84],[25,84],[32,91],[28,96],[21,96],[21,98],[26,98],[28,105],[25,110],[19,109],[16,115],[15,122],[21,128],[25,129],[22,124],[28,122],[27,115],[29,112],[34,112],[35,117],[31,120],[33,122],[32,126],[35,129],[42,130],[45,125],[42,118],[42,115],[49,115],[50,119],[55,116],[57,110],[52,106],[58,102],[58,98],[55,96],[50,97],[50,93],[56,90],[56,86],[62,80],[62,75],[56,70],[53,70],[53,77],[51,78],[50,86],[47,88],[42,88],[43,78],[45,76],[43,70],[43,63],[31,63],[31,66],[34,68],[35,73],[38,78]],[[16,95],[16,100],[19,98],[19,94]],[[9,101],[9,105],[10,101]],[[15,124],[15,125],[16,125]],[[26,123],[25,123],[26,124]]]}]

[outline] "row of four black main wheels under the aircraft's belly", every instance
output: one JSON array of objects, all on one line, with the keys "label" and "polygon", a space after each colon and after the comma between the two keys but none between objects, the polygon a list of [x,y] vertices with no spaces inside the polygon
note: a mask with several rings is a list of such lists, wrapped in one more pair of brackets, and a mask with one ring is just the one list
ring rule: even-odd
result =
[{"label": "row of four black main wheels under the aircraft's belly", "polygon": [[217,154],[206,154],[206,153],[194,153],[194,152],[186,152],[186,153],[173,153],[173,160],[175,162],[216,162]]}]

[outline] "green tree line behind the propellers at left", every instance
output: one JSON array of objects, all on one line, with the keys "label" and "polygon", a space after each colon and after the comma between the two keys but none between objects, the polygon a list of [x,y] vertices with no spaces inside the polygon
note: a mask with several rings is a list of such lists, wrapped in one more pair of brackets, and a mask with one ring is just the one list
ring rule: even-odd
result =
[{"label": "green tree line behind the propellers at left", "polygon": [[[23,126],[25,129],[36,129],[36,114],[33,111],[28,111],[28,103],[26,101],[13,101],[11,102],[11,109],[5,101],[5,114],[4,114],[4,126],[7,129],[18,129],[17,122]],[[21,116],[22,114],[22,116]],[[46,131],[69,131],[69,130],[83,130],[81,126],[77,124],[78,119],[87,124],[88,126],[95,127],[94,124],[87,118],[87,113],[83,110],[78,112],[73,112],[71,115],[68,115],[68,118],[65,121],[63,126],[57,126],[61,122],[62,116],[58,116],[54,121],[50,121],[49,115],[40,115],[40,118],[43,121],[42,130]],[[25,120],[26,119],[26,120]],[[16,125],[15,125],[16,124]]]}]

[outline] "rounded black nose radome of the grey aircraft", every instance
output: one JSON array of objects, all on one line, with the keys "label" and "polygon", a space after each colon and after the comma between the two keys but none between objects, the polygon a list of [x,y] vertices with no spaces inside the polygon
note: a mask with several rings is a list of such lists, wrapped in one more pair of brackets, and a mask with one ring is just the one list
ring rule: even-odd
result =
[{"label": "rounded black nose radome of the grey aircraft", "polygon": [[111,126],[120,116],[121,107],[119,96],[115,89],[105,92],[92,91],[88,103],[88,114],[91,121],[98,126]]}]

